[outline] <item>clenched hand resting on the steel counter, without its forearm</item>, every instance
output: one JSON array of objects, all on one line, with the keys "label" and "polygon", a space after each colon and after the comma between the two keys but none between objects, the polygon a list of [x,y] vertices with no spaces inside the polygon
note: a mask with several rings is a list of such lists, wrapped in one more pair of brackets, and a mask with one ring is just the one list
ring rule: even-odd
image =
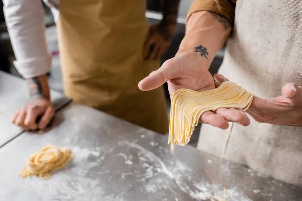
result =
[{"label": "clenched hand resting on the steel counter, without its forearm", "polygon": [[[12,117],[12,122],[24,130],[44,129],[54,116],[54,106],[45,98],[33,99],[19,109]],[[36,123],[38,116],[42,115]]]}]

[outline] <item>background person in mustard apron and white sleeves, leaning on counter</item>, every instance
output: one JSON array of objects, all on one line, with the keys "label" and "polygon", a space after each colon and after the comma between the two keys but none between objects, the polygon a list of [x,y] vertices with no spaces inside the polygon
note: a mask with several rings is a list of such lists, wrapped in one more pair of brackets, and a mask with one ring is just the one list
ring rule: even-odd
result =
[{"label": "background person in mustard apron and white sleeves, leaning on counter", "polygon": [[[163,88],[150,92],[138,82],[156,70],[174,35],[179,0],[163,1],[163,19],[148,27],[145,1],[45,0],[58,28],[66,96],[159,133],[168,131]],[[54,116],[47,73],[51,56],[40,0],[3,0],[14,65],[28,80],[30,100],[13,123],[44,129]],[[24,97],[26,98],[26,97]],[[39,123],[36,118],[42,116]]]}]

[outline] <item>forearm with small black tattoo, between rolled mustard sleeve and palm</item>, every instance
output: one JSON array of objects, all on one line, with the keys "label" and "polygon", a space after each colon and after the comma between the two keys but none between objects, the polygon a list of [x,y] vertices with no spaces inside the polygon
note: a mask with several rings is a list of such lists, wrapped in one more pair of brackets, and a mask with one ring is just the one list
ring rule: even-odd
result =
[{"label": "forearm with small black tattoo, between rolled mustard sleeve and palm", "polygon": [[186,35],[177,54],[190,53],[208,68],[232,31],[231,23],[209,11],[193,13],[186,24]]}]

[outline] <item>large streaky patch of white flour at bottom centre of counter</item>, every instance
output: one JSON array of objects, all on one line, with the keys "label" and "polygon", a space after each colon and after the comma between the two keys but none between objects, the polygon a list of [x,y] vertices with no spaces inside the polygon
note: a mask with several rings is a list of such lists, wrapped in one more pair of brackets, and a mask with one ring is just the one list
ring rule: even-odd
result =
[{"label": "large streaky patch of white flour at bottom centre of counter", "polygon": [[[235,186],[227,188],[226,191],[228,195],[226,195],[222,185],[209,183],[205,181],[204,178],[203,180],[195,178],[192,176],[194,175],[194,169],[189,168],[178,158],[169,156],[166,166],[160,157],[155,155],[153,152],[148,151],[141,145],[128,141],[120,141],[119,145],[126,145],[128,147],[137,149],[137,156],[134,155],[134,157],[139,161],[137,168],[140,168],[140,170],[137,174],[133,175],[136,175],[136,179],[139,182],[142,182],[142,192],[167,193],[167,190],[169,189],[168,193],[171,193],[171,195],[175,197],[175,200],[188,200],[187,196],[190,196],[191,198],[189,200],[194,201],[210,199],[217,201],[217,197],[222,197],[226,200],[232,201],[252,201],[243,193],[238,192]],[[131,153],[133,153],[132,150]],[[210,164],[212,163],[211,160],[208,160],[207,162]],[[141,168],[143,168],[142,171]],[[227,168],[222,167],[222,169],[225,170],[232,168],[232,166],[228,166]],[[166,176],[168,179],[164,178],[161,174]],[[179,193],[177,192],[179,190],[175,189],[179,189],[182,192]],[[186,196],[182,197],[184,194],[186,194]],[[230,198],[227,198],[228,196],[230,196]]]}]

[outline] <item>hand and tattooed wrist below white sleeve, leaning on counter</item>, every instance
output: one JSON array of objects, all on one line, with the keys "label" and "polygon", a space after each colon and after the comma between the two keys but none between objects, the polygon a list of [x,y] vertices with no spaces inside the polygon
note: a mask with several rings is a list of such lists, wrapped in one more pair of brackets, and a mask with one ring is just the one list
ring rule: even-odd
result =
[{"label": "hand and tattooed wrist below white sleeve, leaning on counter", "polygon": [[[30,101],[12,117],[12,122],[24,130],[44,129],[54,116],[54,106],[50,102],[47,75],[28,80]],[[37,118],[41,116],[39,122]],[[39,119],[39,118],[38,118]]]}]

